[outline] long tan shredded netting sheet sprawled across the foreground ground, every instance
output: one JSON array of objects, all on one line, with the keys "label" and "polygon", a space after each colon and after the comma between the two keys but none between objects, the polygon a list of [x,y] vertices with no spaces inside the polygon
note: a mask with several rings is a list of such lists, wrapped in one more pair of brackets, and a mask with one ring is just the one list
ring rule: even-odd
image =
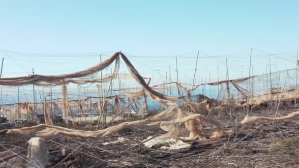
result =
[{"label": "long tan shredded netting sheet sprawled across the foreground ground", "polygon": [[[0,134],[19,134],[29,138],[40,137],[40,138],[44,138],[45,140],[53,139],[59,136],[96,139],[96,138],[111,135],[113,133],[119,132],[128,127],[144,127],[144,126],[159,125],[162,130],[168,133],[160,137],[157,137],[157,139],[165,138],[166,140],[167,138],[177,137],[178,134],[177,124],[185,123],[194,118],[206,118],[206,117],[199,113],[191,113],[183,109],[180,109],[178,107],[172,107],[159,114],[151,116],[147,119],[131,121],[131,122],[123,122],[120,123],[119,125],[108,127],[104,130],[99,130],[99,131],[82,131],[82,130],[63,128],[59,126],[39,124],[36,126],[23,127],[19,129],[2,130]],[[205,122],[217,124],[217,122],[212,121],[211,119],[208,118],[205,120]],[[192,128],[188,128],[188,129],[192,129]]]}]

